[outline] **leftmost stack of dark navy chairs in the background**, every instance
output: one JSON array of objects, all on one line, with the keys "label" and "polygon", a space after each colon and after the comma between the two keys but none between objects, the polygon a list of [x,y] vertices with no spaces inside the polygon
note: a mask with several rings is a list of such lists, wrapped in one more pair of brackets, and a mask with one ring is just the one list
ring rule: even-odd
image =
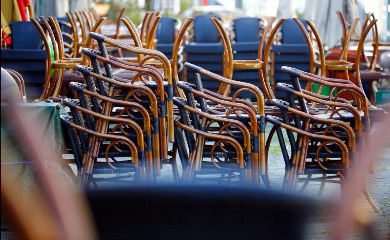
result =
[{"label": "leftmost stack of dark navy chairs in the background", "polygon": [[[19,72],[26,86],[27,101],[41,95],[46,71],[46,51],[42,49],[42,38],[30,21],[9,23],[12,44],[1,49],[1,67]],[[8,47],[8,46],[7,46]]]}]

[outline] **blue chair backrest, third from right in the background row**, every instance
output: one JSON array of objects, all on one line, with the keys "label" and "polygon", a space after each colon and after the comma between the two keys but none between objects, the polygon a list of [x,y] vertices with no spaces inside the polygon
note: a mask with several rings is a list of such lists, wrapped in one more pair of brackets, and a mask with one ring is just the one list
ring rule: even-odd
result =
[{"label": "blue chair backrest, third from right in the background row", "polygon": [[195,42],[219,42],[220,36],[210,17],[221,19],[213,14],[198,15],[194,19]]}]

